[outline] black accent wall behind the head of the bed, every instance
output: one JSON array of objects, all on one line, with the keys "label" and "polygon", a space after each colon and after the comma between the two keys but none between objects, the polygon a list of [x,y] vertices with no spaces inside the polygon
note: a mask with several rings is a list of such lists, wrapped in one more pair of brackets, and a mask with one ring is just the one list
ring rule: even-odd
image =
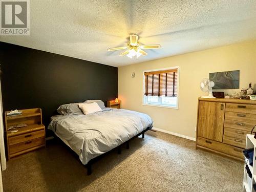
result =
[{"label": "black accent wall behind the head of the bed", "polygon": [[4,111],[41,108],[46,126],[60,104],[117,97],[117,68],[0,42]]}]

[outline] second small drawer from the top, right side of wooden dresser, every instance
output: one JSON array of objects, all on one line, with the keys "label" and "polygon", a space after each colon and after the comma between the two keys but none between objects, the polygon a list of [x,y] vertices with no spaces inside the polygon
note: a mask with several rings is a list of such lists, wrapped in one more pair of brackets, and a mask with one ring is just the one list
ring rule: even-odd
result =
[{"label": "second small drawer from the top, right side of wooden dresser", "polygon": [[256,114],[237,113],[226,111],[225,119],[236,120],[248,123],[256,123]]}]

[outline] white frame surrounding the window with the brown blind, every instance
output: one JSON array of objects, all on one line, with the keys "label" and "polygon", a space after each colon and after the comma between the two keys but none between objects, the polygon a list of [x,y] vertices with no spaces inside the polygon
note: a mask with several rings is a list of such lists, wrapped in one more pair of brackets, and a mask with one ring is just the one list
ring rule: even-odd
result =
[{"label": "white frame surrounding the window with the brown blind", "polygon": [[[178,76],[177,76],[177,106],[167,106],[167,105],[161,105],[161,104],[151,104],[151,103],[144,103],[144,94],[145,94],[145,72],[153,72],[153,71],[163,71],[163,70],[170,70],[170,69],[177,69]],[[145,70],[142,71],[142,105],[147,106],[158,106],[160,108],[170,108],[170,109],[179,109],[179,91],[180,91],[180,66],[175,67],[168,67],[168,68],[161,68],[161,69],[152,69],[152,70]]]}]

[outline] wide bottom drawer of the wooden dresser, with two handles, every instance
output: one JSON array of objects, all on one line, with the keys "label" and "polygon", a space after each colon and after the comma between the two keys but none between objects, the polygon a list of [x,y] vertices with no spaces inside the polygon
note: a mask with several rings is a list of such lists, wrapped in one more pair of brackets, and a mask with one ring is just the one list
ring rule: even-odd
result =
[{"label": "wide bottom drawer of the wooden dresser, with two handles", "polygon": [[235,146],[230,146],[230,145],[225,144],[225,143],[220,143],[220,142],[217,142],[217,141],[212,141],[212,140],[204,139],[204,138],[201,138],[201,137],[197,138],[197,144],[201,145],[201,146],[204,146],[204,147],[207,147],[207,148],[210,148],[211,150],[222,152],[222,153],[225,153],[225,154],[228,154],[228,155],[231,155],[231,156],[235,156],[235,157],[238,157],[238,158],[244,158],[242,148],[238,148],[238,147],[235,147]]}]

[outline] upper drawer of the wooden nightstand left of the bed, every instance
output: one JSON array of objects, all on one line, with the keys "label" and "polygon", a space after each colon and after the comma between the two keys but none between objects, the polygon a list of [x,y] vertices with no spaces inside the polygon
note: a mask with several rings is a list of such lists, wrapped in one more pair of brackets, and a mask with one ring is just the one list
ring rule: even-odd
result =
[{"label": "upper drawer of the wooden nightstand left of the bed", "polygon": [[22,143],[39,137],[45,137],[45,130],[30,132],[22,135],[17,135],[9,137],[9,145],[14,145],[17,143]]}]

